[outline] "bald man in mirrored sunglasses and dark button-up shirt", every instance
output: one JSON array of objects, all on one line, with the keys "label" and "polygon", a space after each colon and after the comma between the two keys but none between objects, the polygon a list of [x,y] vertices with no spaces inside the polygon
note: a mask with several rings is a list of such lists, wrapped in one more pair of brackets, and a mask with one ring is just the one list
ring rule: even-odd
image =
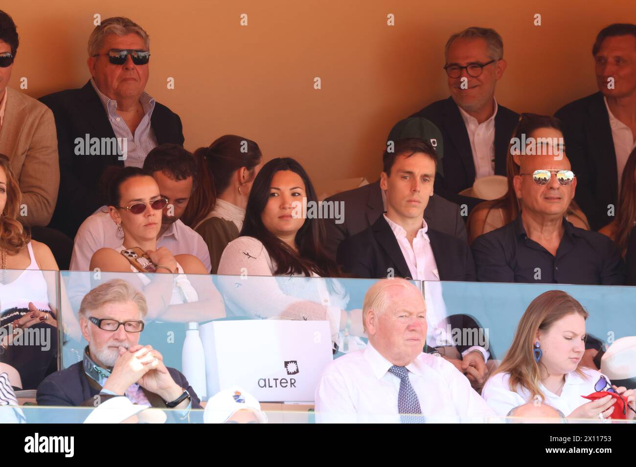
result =
[{"label": "bald man in mirrored sunglasses and dark button-up shirt", "polygon": [[475,239],[477,279],[623,285],[625,263],[614,242],[565,219],[577,179],[564,149],[550,147],[553,139],[547,140],[548,151],[542,154],[514,154],[520,174],[513,187],[521,213],[506,226]]}]

